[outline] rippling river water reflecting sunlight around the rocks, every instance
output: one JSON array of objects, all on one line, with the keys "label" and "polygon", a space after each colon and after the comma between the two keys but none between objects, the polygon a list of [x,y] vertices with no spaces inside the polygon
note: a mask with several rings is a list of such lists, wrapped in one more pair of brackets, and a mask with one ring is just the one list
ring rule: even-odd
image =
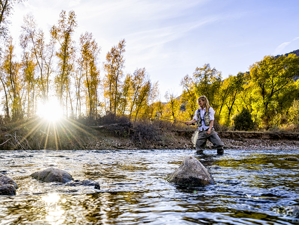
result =
[{"label": "rippling river water reflecting sunlight around the rocks", "polygon": [[[0,225],[290,225],[279,207],[299,204],[299,150],[12,150],[0,151],[0,172],[16,181],[0,196]],[[165,181],[188,155],[216,185],[182,187]],[[55,167],[101,190],[41,183],[30,174]]]}]

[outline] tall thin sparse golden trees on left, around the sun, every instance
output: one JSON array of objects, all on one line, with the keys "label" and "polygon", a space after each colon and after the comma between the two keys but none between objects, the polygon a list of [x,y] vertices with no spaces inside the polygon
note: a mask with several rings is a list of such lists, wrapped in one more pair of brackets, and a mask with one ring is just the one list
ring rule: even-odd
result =
[{"label": "tall thin sparse golden trees on left, around the sun", "polygon": [[153,102],[157,82],[151,82],[145,68],[124,74],[125,39],[107,53],[101,80],[101,47],[89,32],[75,42],[76,27],[75,12],[62,10],[46,42],[33,16],[26,15],[19,37],[21,57],[16,57],[13,38],[6,37],[0,62],[6,119],[30,118],[53,97],[65,116],[72,118],[96,119],[107,113],[132,116]]}]

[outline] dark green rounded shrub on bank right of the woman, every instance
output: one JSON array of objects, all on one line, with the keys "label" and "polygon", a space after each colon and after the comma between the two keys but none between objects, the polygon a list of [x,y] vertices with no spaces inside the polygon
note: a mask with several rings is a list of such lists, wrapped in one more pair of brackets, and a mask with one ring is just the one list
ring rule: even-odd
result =
[{"label": "dark green rounded shrub on bank right of the woman", "polygon": [[254,127],[251,114],[246,108],[244,108],[240,114],[237,114],[233,121],[235,129],[238,131],[250,131]]}]

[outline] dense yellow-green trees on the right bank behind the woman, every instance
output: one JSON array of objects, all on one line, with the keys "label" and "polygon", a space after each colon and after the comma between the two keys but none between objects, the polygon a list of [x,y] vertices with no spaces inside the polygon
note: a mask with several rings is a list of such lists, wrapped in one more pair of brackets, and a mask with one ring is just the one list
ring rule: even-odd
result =
[{"label": "dense yellow-green trees on the right bank behind the woman", "polygon": [[[237,121],[246,124],[250,119],[252,123],[243,126],[243,130],[298,131],[299,57],[295,54],[265,56],[249,69],[247,73],[229,75],[223,80],[221,72],[209,64],[196,68],[192,76],[186,75],[181,81],[184,114],[191,118],[197,108],[196,97],[205,94],[216,111],[217,120],[226,127],[236,127]],[[250,118],[240,120],[240,115],[248,114]]]}]

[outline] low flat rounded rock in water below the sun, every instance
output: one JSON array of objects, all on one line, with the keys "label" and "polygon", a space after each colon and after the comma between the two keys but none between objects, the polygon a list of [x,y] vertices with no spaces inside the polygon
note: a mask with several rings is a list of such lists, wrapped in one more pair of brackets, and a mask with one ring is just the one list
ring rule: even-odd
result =
[{"label": "low flat rounded rock in water below the sun", "polygon": [[42,182],[60,182],[60,183],[67,183],[73,180],[73,177],[61,170],[55,168],[48,168],[45,170],[41,170],[35,173],[32,173],[32,176],[36,180],[40,180]]}]

